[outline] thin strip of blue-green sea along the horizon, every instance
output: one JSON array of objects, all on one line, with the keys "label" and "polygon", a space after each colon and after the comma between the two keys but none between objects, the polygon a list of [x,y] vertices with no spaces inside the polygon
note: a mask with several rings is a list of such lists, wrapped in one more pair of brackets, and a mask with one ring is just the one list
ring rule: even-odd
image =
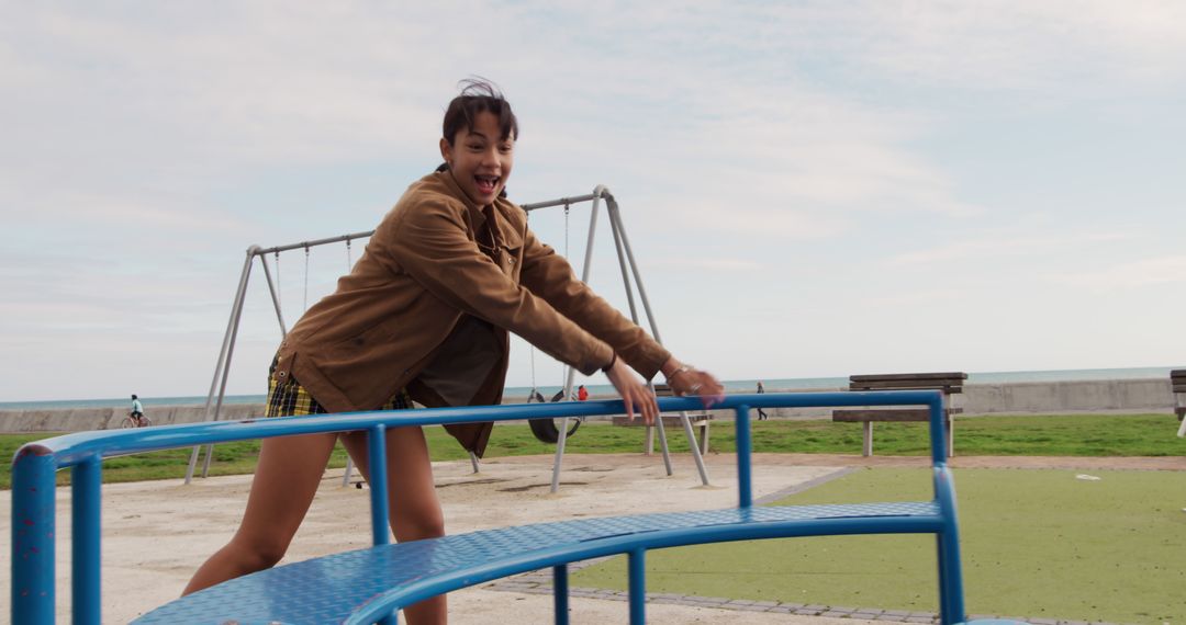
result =
[{"label": "thin strip of blue-green sea along the horizon", "polygon": [[[1171,369],[1186,367],[1130,367],[1120,369],[1057,369],[1057,371],[1018,371],[1018,372],[987,372],[969,373],[969,384],[1002,384],[1002,382],[1051,382],[1071,380],[1133,380],[1147,378],[1168,378]],[[758,380],[725,380],[725,389],[728,393],[752,392],[758,385]],[[848,386],[848,378],[789,378],[789,379],[763,379],[767,392],[776,391],[804,391],[809,388],[844,388]],[[586,385],[591,394],[610,394],[613,387],[610,385]],[[508,386],[504,395],[508,398],[523,398],[530,392],[528,386]],[[540,393],[546,398],[551,398],[560,392],[559,386],[541,386]],[[185,406],[204,405],[205,395],[193,397],[141,397],[145,408],[152,406]],[[264,395],[227,395],[223,404],[262,404]],[[96,408],[96,407],[125,407],[130,404],[128,398],[119,399],[72,399],[72,400],[45,400],[45,401],[0,401],[2,410],[69,410],[69,408]]]}]

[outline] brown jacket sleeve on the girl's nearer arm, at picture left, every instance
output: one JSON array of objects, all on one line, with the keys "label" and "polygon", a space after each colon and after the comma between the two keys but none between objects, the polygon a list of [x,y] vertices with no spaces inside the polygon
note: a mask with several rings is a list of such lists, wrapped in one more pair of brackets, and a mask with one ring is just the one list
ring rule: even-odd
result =
[{"label": "brown jacket sleeve on the girl's nearer arm, at picture left", "polygon": [[470,239],[461,211],[446,200],[406,207],[394,220],[387,253],[434,297],[505,328],[586,375],[613,352],[528,289]]}]

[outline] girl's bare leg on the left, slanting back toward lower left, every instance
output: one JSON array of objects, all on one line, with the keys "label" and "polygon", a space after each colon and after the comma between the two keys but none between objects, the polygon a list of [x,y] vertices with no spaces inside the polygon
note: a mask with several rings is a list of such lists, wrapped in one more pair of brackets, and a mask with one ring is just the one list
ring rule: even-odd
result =
[{"label": "girl's bare leg on the left, slanting back toward lower left", "polygon": [[238,531],[193,574],[181,594],[275,566],[305,520],[338,434],[267,438]]}]

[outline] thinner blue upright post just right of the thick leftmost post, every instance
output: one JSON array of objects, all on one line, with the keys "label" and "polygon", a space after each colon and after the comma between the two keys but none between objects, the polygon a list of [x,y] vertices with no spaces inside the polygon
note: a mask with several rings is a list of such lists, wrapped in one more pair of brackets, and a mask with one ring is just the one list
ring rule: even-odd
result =
[{"label": "thinner blue upright post just right of the thick leftmost post", "polygon": [[100,625],[101,604],[101,526],[100,498],[102,463],[91,456],[70,470],[71,510],[71,579],[74,623]]}]

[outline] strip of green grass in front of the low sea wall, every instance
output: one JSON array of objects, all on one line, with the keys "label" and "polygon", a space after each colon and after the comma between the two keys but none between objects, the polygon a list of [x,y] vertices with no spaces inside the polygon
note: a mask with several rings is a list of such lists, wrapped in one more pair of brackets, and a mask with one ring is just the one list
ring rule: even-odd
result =
[{"label": "strip of green grass in front of the low sea wall", "polygon": [[[754,451],[773,453],[860,453],[861,427],[829,420],[754,421]],[[1169,414],[1079,414],[1027,417],[975,417],[956,424],[956,450],[963,456],[1186,456],[1186,439],[1174,437],[1178,421]],[[440,427],[426,430],[436,460],[466,458],[465,451]],[[12,458],[20,445],[53,434],[0,434],[0,455]],[[687,452],[681,432],[670,432],[675,452]],[[569,453],[623,453],[642,447],[640,427],[613,427],[587,423],[568,440]],[[732,421],[712,432],[712,449],[735,451]],[[878,424],[874,449],[882,456],[929,453],[926,424]],[[212,475],[249,473],[255,469],[257,442],[227,443],[215,447]],[[553,453],[555,445],[540,443],[527,425],[499,425],[490,438],[487,457]],[[104,482],[138,482],[185,475],[190,450],[170,450],[113,458],[103,463]],[[340,446],[330,466],[344,466]],[[65,484],[69,472],[59,473]],[[0,489],[11,488],[11,465],[0,466]]]}]

